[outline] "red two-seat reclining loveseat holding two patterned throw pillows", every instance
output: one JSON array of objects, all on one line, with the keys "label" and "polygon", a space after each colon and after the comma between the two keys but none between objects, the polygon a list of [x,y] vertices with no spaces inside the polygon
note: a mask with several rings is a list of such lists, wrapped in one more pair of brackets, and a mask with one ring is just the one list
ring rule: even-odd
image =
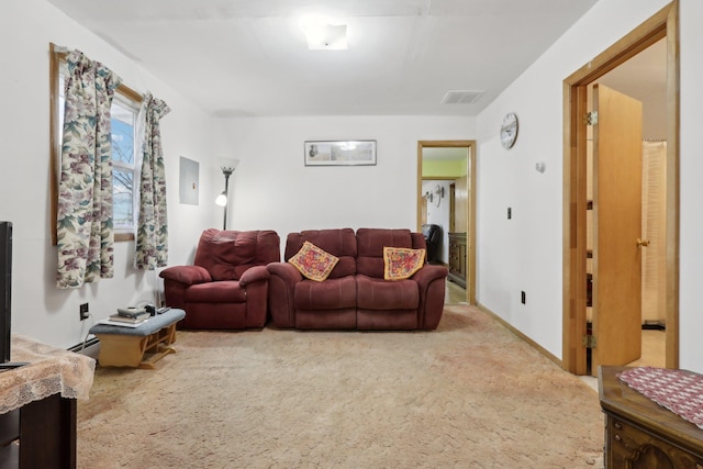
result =
[{"label": "red two-seat reclining loveseat holding two patterned throw pillows", "polygon": [[[323,281],[288,263],[305,242],[338,258]],[[384,280],[383,247],[424,249],[422,233],[352,228],[291,233],[284,263],[271,263],[268,306],[277,327],[434,330],[442,319],[448,269],[424,264],[404,280]]]}]

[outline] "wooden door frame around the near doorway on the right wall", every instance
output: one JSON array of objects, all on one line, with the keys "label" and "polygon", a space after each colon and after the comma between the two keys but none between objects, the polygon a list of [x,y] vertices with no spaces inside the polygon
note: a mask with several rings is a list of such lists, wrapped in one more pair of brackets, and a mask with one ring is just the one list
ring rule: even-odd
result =
[{"label": "wooden door frame around the near doorway on the right wall", "polygon": [[588,85],[667,41],[666,366],[679,367],[679,1],[659,10],[563,80],[563,369],[585,375],[585,124]]}]

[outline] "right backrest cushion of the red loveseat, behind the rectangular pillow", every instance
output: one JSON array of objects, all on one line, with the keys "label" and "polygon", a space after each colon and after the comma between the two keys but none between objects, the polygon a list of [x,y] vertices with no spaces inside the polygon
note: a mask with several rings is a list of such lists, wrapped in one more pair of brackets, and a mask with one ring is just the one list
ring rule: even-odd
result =
[{"label": "right backrest cushion of the red loveseat, behind the rectangular pillow", "polygon": [[[422,234],[419,235],[422,238]],[[359,228],[356,232],[356,239],[357,272],[378,279],[383,278],[383,247],[405,247],[409,249],[425,247],[424,245],[413,245],[410,230]]]}]

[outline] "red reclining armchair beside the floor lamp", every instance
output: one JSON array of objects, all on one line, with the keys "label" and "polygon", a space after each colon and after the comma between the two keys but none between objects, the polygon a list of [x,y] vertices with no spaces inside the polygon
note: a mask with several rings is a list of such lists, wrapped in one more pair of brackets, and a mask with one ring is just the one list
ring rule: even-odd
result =
[{"label": "red reclining armchair beside the floor lamp", "polygon": [[280,260],[274,231],[205,230],[193,266],[164,269],[166,304],[186,311],[183,328],[243,330],[267,321],[269,273]]}]

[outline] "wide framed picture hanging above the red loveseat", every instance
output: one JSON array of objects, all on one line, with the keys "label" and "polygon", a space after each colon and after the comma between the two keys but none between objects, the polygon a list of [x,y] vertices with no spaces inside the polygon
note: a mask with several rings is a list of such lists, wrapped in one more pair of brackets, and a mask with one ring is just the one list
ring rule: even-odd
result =
[{"label": "wide framed picture hanging above the red loveseat", "polygon": [[306,141],[305,166],[376,165],[376,141]]}]

